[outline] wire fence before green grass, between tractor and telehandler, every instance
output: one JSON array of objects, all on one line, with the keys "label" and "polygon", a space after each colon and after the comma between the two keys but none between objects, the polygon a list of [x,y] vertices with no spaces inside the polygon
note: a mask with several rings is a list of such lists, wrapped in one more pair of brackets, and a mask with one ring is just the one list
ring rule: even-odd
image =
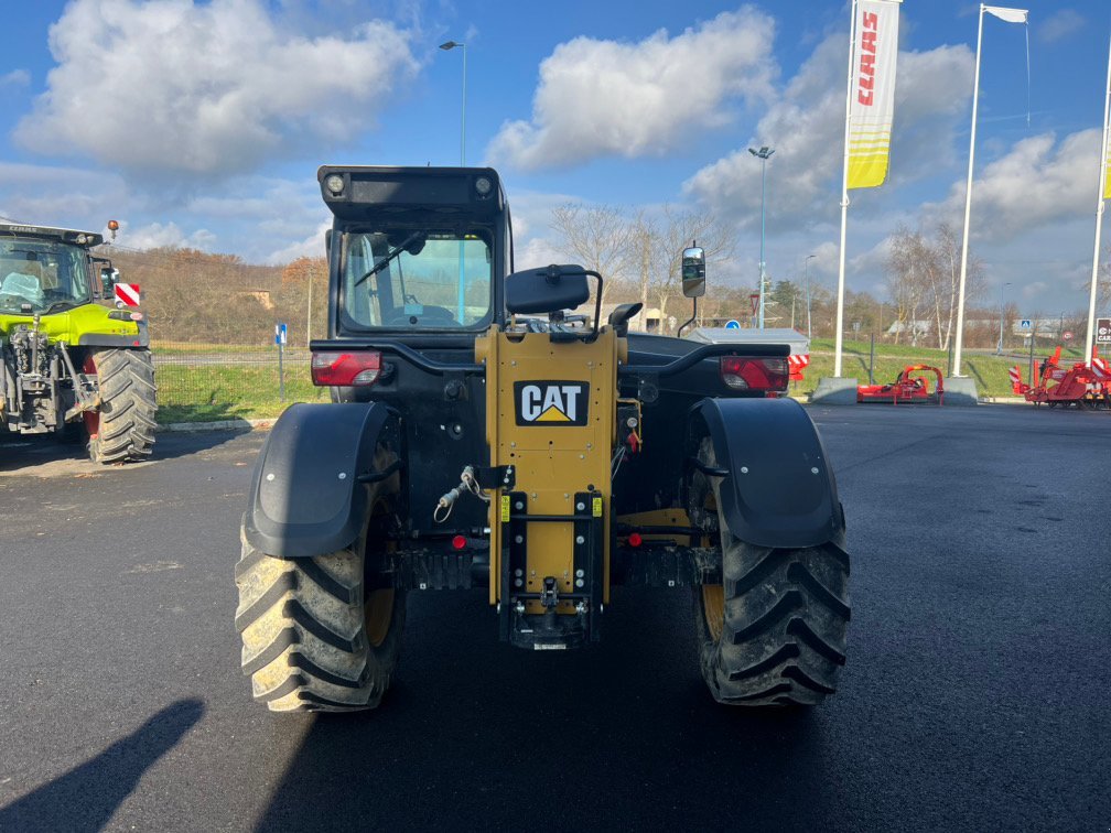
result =
[{"label": "wire fence before green grass, between tractor and telehandler", "polygon": [[276,416],[293,402],[326,402],[304,349],[153,345],[159,420],[180,422]]}]

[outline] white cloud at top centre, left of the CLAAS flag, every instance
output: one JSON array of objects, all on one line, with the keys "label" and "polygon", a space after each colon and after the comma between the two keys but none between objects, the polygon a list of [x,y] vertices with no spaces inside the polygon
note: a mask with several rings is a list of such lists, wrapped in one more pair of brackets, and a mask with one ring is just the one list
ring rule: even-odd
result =
[{"label": "white cloud at top centre, left of the CLAAS flag", "polygon": [[575,38],[540,64],[531,121],[506,122],[487,155],[524,170],[608,155],[662,154],[729,123],[737,100],[765,99],[774,21],[745,7],[670,38]]}]

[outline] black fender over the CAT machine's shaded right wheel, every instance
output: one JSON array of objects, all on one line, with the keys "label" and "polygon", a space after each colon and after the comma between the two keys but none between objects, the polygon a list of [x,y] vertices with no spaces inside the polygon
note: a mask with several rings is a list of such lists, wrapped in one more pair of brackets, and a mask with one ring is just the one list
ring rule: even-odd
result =
[{"label": "black fender over the CAT machine's shaded right wheel", "polygon": [[791,399],[703,399],[690,412],[688,459],[713,443],[730,532],[757,546],[844,545],[844,514],[825,449]]}]

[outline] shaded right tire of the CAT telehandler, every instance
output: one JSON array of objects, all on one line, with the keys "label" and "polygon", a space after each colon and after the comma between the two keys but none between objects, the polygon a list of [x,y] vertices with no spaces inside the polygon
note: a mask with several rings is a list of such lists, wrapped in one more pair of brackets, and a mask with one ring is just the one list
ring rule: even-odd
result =
[{"label": "shaded right tire of the CAT telehandler", "polygon": [[[709,440],[699,458],[717,466]],[[734,538],[720,511],[721,479],[704,480],[717,509],[723,579],[694,589],[710,693],[730,705],[818,705],[837,689],[845,661],[848,553],[833,543],[788,550]]]}]

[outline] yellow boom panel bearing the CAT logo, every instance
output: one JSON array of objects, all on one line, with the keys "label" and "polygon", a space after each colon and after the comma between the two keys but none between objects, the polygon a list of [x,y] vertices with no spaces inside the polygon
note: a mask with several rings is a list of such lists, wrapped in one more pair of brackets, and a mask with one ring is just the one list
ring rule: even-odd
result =
[{"label": "yellow boom panel bearing the CAT logo", "polygon": [[[490,602],[511,595],[542,592],[554,578],[559,613],[571,613],[563,596],[581,591],[589,576],[577,575],[575,544],[582,545],[572,516],[599,518],[603,559],[602,599],[609,601],[610,465],[615,434],[617,364],[624,340],[603,331],[593,341],[553,341],[549,333],[491,330],[476,344],[478,361],[487,364],[487,438],[492,466],[511,465],[520,495],[497,492],[491,501]],[[582,498],[582,493],[597,493]],[[577,494],[580,495],[577,499]],[[502,586],[500,558],[506,542],[503,524],[510,514],[527,512],[547,520],[523,528],[523,574]],[[567,522],[559,518],[565,516]],[[507,528],[508,529],[508,528]],[[522,535],[520,531],[514,538]],[[582,583],[578,583],[582,582]],[[544,608],[528,601],[529,613]]]}]

